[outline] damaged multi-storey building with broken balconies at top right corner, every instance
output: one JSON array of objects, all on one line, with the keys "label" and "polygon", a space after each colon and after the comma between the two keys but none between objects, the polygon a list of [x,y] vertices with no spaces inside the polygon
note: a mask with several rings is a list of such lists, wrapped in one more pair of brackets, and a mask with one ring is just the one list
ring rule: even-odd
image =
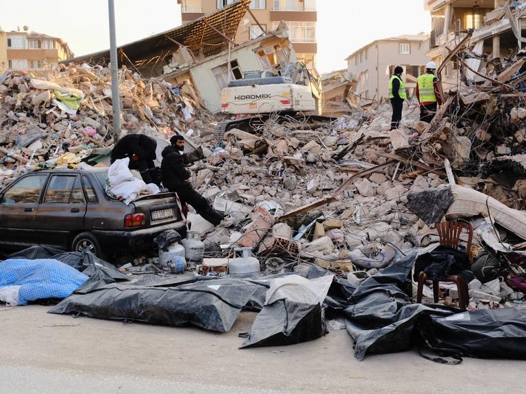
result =
[{"label": "damaged multi-storey building with broken balconies at top right corner", "polygon": [[[511,3],[511,4],[508,4]],[[514,57],[526,40],[524,36],[524,1],[506,0],[426,0],[425,9],[431,13],[431,49],[429,57],[442,66],[444,90],[456,86],[458,60],[449,53],[466,39],[471,59],[466,64],[473,71],[481,70],[482,60]],[[469,36],[469,37],[468,37]]]}]

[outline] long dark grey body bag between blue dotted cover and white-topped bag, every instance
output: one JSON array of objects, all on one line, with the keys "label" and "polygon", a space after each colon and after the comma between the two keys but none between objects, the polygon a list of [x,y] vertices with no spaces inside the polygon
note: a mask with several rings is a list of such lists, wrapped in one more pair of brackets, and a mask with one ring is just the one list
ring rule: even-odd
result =
[{"label": "long dark grey body bag between blue dotted cover and white-topped bag", "polygon": [[[103,274],[101,274],[103,277]],[[228,332],[258,285],[221,278],[177,287],[119,285],[95,276],[49,313],[80,313],[100,319],[196,326]]]}]

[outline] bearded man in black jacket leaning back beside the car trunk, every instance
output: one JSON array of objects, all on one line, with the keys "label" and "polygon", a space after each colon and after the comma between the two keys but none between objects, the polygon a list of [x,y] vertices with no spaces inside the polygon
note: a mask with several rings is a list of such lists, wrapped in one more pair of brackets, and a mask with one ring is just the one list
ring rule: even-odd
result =
[{"label": "bearded man in black jacket leaning back beside the car trunk", "polygon": [[218,213],[206,198],[203,198],[190,184],[190,172],[184,164],[184,138],[174,135],[170,139],[170,146],[162,150],[162,183],[170,192],[176,192],[181,203],[192,205],[195,211],[205,220],[217,226],[223,220],[223,215]]}]

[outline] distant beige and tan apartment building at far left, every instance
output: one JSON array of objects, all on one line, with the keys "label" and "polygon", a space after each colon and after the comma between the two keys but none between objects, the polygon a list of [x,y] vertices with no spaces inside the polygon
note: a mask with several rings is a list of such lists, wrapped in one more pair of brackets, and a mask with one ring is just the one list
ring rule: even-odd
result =
[{"label": "distant beige and tan apartment building at far left", "polygon": [[0,31],[0,68],[45,70],[73,57],[68,44],[34,31]]}]

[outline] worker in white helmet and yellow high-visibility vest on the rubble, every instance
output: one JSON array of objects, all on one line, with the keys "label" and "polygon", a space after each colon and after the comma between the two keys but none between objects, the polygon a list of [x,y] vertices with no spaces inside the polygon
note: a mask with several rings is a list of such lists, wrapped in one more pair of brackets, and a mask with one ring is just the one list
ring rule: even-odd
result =
[{"label": "worker in white helmet and yellow high-visibility vest on the rubble", "polygon": [[420,120],[431,123],[438,105],[442,105],[442,96],[438,90],[438,78],[435,76],[436,64],[429,62],[425,74],[416,81],[416,98],[420,103]]}]

